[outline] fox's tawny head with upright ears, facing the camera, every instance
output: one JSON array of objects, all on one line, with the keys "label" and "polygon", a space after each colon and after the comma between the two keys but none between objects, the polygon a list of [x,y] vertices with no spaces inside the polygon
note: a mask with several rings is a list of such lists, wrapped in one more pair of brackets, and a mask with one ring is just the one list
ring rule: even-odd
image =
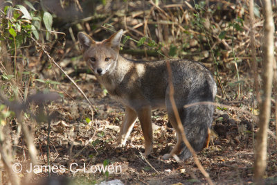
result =
[{"label": "fox's tawny head with upright ears, facing the camera", "polygon": [[96,42],[89,35],[82,32],[78,33],[84,60],[87,62],[89,69],[96,75],[104,76],[105,73],[111,73],[116,67],[122,35],[123,30],[119,30],[111,35],[109,39]]}]

